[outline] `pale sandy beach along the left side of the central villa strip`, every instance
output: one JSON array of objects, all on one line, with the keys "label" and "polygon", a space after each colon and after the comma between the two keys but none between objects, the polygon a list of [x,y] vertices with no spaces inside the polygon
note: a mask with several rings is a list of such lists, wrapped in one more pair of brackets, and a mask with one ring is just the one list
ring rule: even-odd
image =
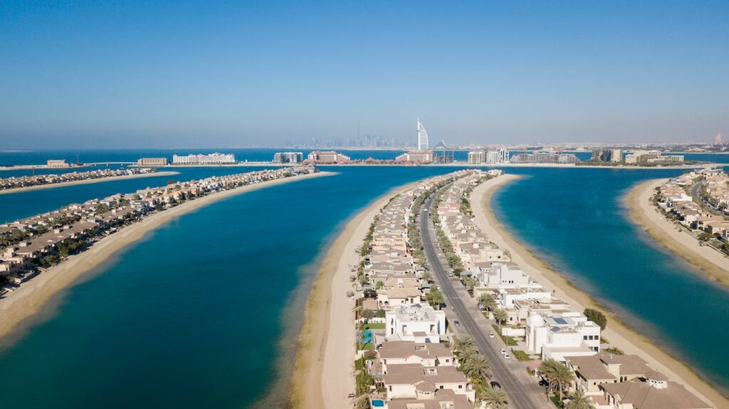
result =
[{"label": "pale sandy beach along the left side of the central villa strip", "polygon": [[347,395],[354,392],[354,298],[349,281],[351,266],[359,264],[362,245],[375,215],[392,196],[412,187],[389,191],[351,219],[321,263],[311,287],[299,337],[293,373],[292,406],[295,408],[351,408]]}]

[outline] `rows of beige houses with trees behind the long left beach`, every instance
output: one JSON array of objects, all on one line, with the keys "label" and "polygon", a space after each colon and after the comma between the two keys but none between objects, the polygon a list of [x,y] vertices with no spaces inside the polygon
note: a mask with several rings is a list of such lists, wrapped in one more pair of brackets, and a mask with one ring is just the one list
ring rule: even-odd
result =
[{"label": "rows of beige houses with trees behind the long left beach", "polygon": [[132,194],[69,204],[49,213],[0,224],[0,277],[7,281],[12,276],[19,283],[39,266],[58,263],[74,250],[113,234],[149,213],[219,191],[315,171],[313,167],[292,167],[170,183]]}]

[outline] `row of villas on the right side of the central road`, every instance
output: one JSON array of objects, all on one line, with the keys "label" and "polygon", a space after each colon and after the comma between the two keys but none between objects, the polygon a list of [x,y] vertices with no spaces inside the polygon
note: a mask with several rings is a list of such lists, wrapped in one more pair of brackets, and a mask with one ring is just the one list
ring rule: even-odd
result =
[{"label": "row of villas on the right side of the central road", "polygon": [[474,296],[490,294],[496,309],[507,312],[502,333],[522,336],[527,353],[572,369],[572,389],[584,392],[595,408],[710,408],[641,357],[602,352],[599,325],[572,311],[513,263],[508,253],[498,250],[461,212],[464,199],[481,180],[479,175],[456,180],[443,194],[437,214],[440,229],[464,264],[464,275],[475,280]]}]

